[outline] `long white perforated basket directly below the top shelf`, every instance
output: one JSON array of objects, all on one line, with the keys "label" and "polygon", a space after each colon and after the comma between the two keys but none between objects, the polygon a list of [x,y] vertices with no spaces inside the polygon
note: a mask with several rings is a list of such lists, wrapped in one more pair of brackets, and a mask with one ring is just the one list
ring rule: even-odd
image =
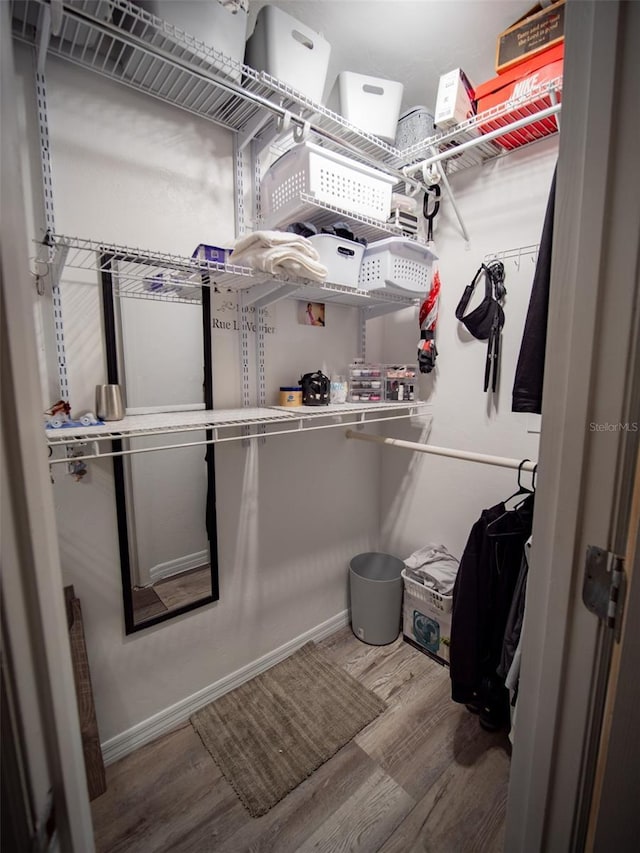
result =
[{"label": "long white perforated basket directly below the top shelf", "polygon": [[300,195],[386,222],[394,178],[312,142],[295,145],[267,170],[261,183],[266,228],[295,222],[308,211]]}]

